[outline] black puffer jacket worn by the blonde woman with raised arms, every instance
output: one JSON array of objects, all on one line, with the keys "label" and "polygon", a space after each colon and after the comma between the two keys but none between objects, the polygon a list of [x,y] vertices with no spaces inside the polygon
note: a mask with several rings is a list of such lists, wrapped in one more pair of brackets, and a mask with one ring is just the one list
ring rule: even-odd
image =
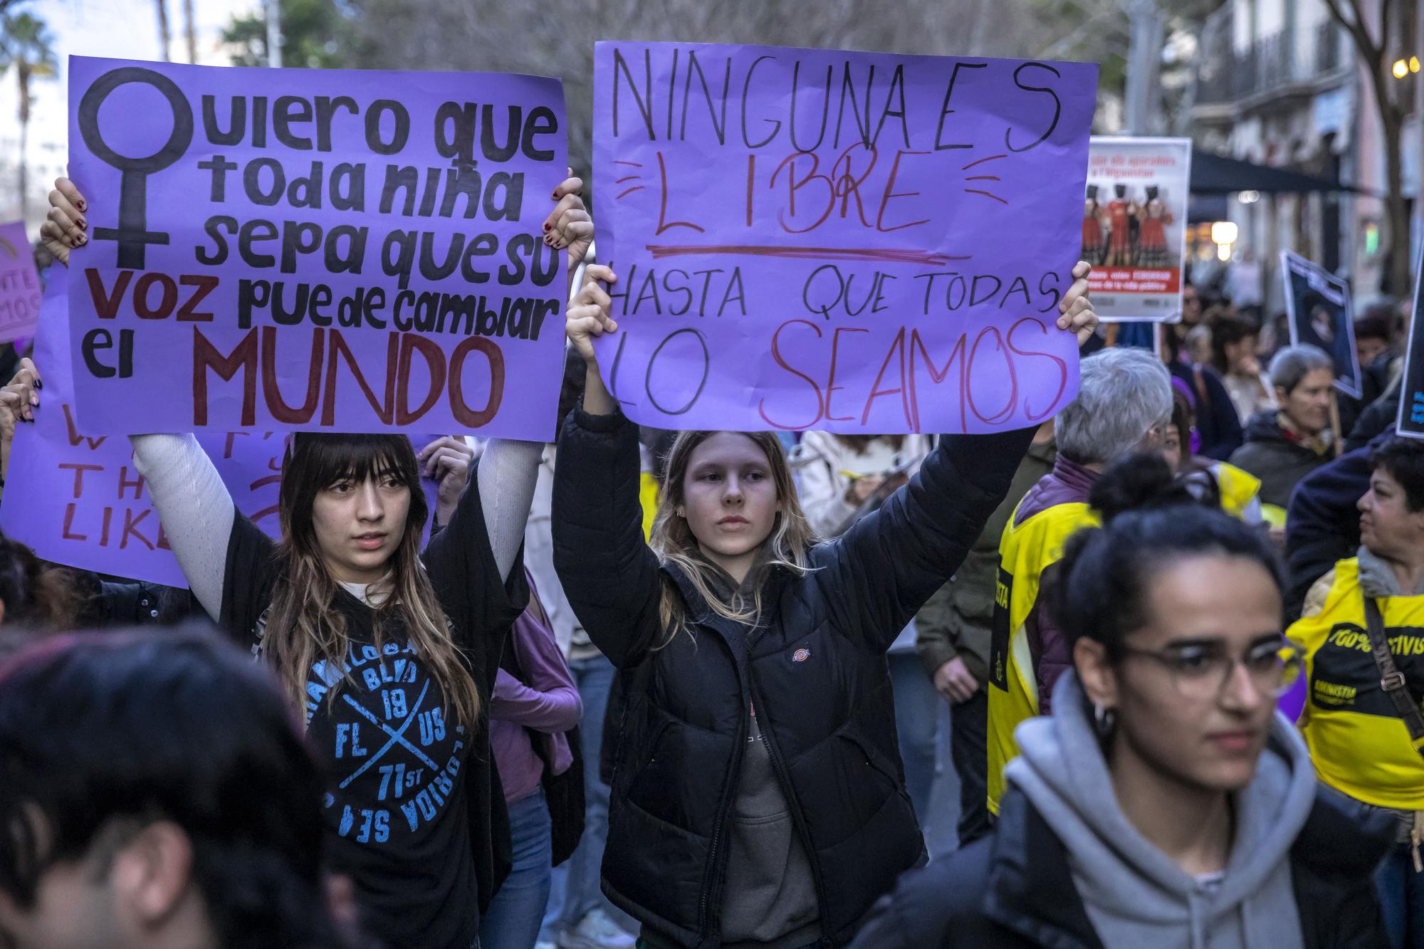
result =
[{"label": "black puffer jacket worn by the blonde woman with raised arms", "polygon": [[[604,892],[659,943],[721,942],[728,812],[749,705],[809,856],[822,945],[850,940],[874,899],[923,859],[904,789],[884,654],[950,577],[998,506],[1032,430],[947,436],[910,484],[805,574],[772,569],[756,627],[719,617],[644,543],[638,435],[621,415],[564,426],[554,566],[627,704],[604,851]],[[664,591],[688,630],[668,638]]]}]

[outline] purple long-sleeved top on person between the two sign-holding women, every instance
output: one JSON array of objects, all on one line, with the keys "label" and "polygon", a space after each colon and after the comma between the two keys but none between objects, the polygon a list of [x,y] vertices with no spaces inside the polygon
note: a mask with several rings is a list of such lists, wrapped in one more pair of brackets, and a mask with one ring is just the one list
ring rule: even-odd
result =
[{"label": "purple long-sleeved top on person between the two sign-holding women", "polygon": [[[568,771],[574,754],[564,732],[577,725],[584,714],[564,654],[541,618],[534,577],[528,581],[530,606],[510,631],[514,664],[528,685],[501,668],[494,680],[494,701],[490,702],[490,747],[500,768],[506,801],[534,794],[544,777],[545,758],[553,761],[554,774]],[[544,757],[534,750],[534,735],[544,744]]]}]

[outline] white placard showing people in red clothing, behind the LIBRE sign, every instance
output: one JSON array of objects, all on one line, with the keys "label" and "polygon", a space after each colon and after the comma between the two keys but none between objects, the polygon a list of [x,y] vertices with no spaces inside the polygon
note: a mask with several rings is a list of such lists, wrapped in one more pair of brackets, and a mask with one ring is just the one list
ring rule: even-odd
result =
[{"label": "white placard showing people in red clothing, behind the LIBRE sign", "polygon": [[1188,138],[1092,138],[1082,259],[1102,319],[1180,319],[1190,165]]}]

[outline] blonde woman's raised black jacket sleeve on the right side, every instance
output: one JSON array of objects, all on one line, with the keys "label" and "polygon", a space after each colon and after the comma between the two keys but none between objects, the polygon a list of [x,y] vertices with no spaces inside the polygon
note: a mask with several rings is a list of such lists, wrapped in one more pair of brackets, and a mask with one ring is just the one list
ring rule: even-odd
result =
[{"label": "blonde woman's raised black jacket sleeve on the right side", "polygon": [[1034,429],[947,435],[880,510],[812,551],[836,628],[884,653],[954,574],[1014,482]]}]

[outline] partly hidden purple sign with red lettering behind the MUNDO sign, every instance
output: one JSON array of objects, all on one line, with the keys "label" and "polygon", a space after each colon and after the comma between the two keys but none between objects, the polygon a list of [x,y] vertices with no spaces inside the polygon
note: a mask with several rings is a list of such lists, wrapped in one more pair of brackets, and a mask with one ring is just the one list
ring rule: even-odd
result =
[{"label": "partly hidden purple sign with red lettering behind the MUNDO sign", "polygon": [[[20,425],[14,433],[0,530],[44,560],[187,587],[128,439],[94,435],[75,422],[67,309],[67,282],[53,274],[34,341],[44,390],[34,425]],[[259,432],[198,436],[236,509],[272,537],[281,533],[276,504],[288,439]],[[414,440],[423,446],[431,437]],[[422,487],[433,512],[436,486],[422,480]]]}]

